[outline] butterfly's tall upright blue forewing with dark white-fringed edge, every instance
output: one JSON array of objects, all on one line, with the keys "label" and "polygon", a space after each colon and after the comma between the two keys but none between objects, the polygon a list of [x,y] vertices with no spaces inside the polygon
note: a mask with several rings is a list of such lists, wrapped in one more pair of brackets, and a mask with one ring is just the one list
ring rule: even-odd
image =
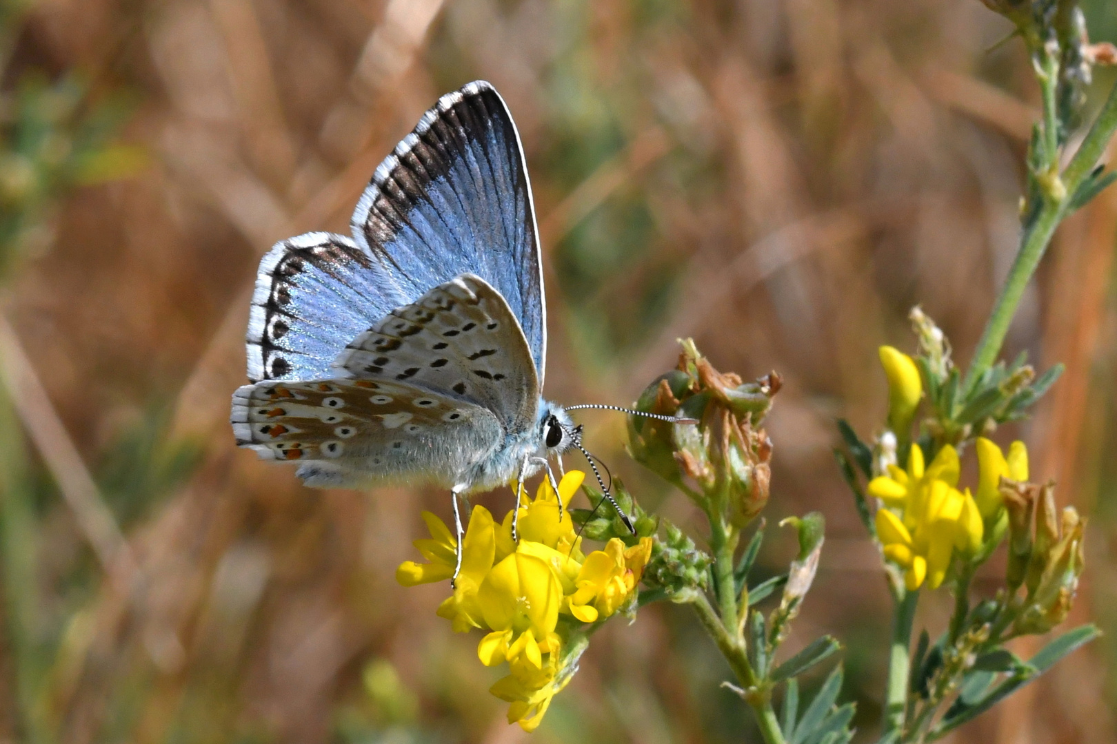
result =
[{"label": "butterfly's tall upright blue forewing with dark white-fringed edge", "polygon": [[409,301],[465,273],[491,284],[519,322],[542,385],[545,306],[531,183],[516,126],[488,83],[447,94],[423,115],[376,168],[352,228]]}]

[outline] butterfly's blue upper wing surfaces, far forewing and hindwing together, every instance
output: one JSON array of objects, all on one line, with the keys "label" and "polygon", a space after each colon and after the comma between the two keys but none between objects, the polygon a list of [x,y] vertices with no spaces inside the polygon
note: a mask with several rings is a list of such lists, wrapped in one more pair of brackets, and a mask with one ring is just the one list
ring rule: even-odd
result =
[{"label": "butterfly's blue upper wing surfaces, far forewing and hindwing together", "polygon": [[474,273],[518,320],[540,386],[546,317],[531,182],[516,125],[488,83],[442,96],[376,168],[353,239],[307,233],[260,262],[248,377],[335,377],[345,346],[393,309]]}]

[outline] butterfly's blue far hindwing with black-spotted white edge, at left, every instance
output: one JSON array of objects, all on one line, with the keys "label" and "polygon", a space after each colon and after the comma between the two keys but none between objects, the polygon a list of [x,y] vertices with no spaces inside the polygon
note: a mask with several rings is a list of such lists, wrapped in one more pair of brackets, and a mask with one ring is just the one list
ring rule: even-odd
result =
[{"label": "butterfly's blue far hindwing with black-spotted white edge, at left", "polygon": [[256,279],[248,377],[330,377],[347,341],[408,301],[383,267],[349,238],[316,232],[279,241],[260,261]]}]

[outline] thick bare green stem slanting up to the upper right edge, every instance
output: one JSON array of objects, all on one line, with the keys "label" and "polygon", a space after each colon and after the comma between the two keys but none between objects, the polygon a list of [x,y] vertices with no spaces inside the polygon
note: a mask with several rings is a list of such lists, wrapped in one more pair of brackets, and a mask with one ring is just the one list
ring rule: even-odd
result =
[{"label": "thick bare green stem slanting up to the upper right edge", "polygon": [[[1041,76],[1040,85],[1043,87],[1044,122],[1048,122],[1047,109],[1054,105],[1056,81],[1044,80]],[[1048,87],[1051,88],[1050,91]],[[1101,157],[1114,131],[1117,131],[1117,86],[1114,86],[1109,91],[1109,97],[1094,120],[1094,125],[1090,126],[1089,133],[1062,172],[1060,177],[1061,196],[1056,197],[1048,193],[1035,219],[1024,230],[1020,252],[1016,253],[1016,258],[1012,262],[1009,277],[996,298],[993,312],[990,315],[989,322],[985,325],[985,330],[982,332],[981,340],[974,351],[973,361],[970,364],[970,371],[966,374],[966,389],[973,389],[982,374],[996,361],[1001,346],[1004,344],[1004,337],[1009,332],[1009,325],[1016,313],[1020,298],[1023,297],[1024,288],[1032,274],[1035,273],[1035,268],[1039,265],[1040,259],[1043,258],[1043,252],[1051,242],[1056,228],[1067,215],[1070,200],[1078,187],[1082,185],[1082,181],[1094,170],[1098,158]],[[1058,161],[1056,161],[1056,167],[1058,167],[1057,163]]]}]

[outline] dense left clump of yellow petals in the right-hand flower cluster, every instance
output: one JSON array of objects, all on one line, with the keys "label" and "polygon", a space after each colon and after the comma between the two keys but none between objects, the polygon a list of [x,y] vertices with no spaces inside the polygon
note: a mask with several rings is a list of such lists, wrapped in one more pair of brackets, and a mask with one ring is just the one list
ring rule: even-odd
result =
[{"label": "dense left clump of yellow petals in the right-hand flower cluster", "polygon": [[956,487],[958,472],[954,447],[944,446],[924,471],[923,453],[913,446],[907,471],[892,467],[890,475],[869,484],[869,492],[885,502],[877,511],[877,538],[885,557],[905,569],[909,590],[925,580],[938,588],[955,550],[972,553],[981,547],[981,512],[970,490]]}]

